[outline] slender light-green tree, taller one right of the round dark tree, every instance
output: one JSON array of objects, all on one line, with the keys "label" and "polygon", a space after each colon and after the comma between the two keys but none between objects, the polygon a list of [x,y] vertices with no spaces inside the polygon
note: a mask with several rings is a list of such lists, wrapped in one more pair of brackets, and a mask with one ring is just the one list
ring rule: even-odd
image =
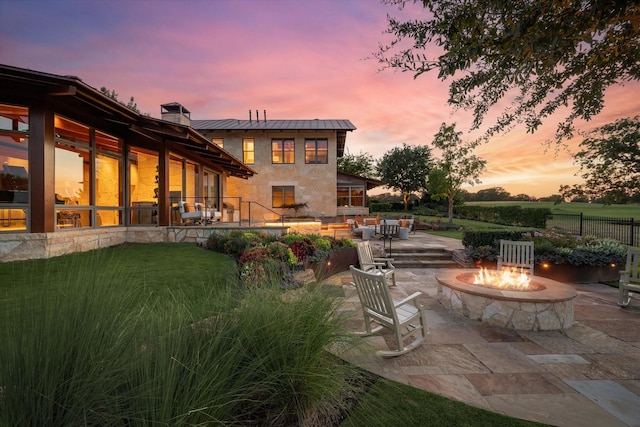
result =
[{"label": "slender light-green tree, taller one right of the round dark tree", "polygon": [[429,173],[427,190],[434,200],[447,199],[449,224],[453,224],[453,206],[462,200],[462,184],[478,184],[486,161],[471,154],[474,144],[465,143],[456,125],[443,123],[433,138],[433,146],[442,151]]}]

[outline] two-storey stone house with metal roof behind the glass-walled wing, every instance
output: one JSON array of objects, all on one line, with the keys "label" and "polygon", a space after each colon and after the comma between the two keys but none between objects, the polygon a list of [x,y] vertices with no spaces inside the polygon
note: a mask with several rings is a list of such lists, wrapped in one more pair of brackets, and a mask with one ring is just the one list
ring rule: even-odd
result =
[{"label": "two-storey stone house with metal roof behind the glass-walled wing", "polygon": [[256,110],[246,120],[191,120],[192,128],[257,172],[256,179],[234,180],[227,187],[227,196],[247,203],[243,219],[342,215],[337,159],[347,132],[356,127],[349,120],[267,120],[266,115]]}]

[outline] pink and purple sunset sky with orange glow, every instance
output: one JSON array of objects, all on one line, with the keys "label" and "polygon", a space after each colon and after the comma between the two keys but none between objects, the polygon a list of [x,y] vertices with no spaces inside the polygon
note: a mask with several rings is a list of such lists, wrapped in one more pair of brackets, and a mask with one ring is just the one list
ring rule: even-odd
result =
[{"label": "pink and purple sunset sky with orange glow", "polygon": [[[135,97],[153,117],[176,101],[192,119],[248,119],[249,110],[267,110],[268,119],[349,119],[358,128],[347,136],[350,154],[380,158],[403,143],[429,145],[443,122],[473,139],[470,114],[446,102],[447,82],[379,72],[367,59],[389,40],[387,14],[401,13],[425,16],[377,0],[0,0],[0,62],[78,76],[122,101]],[[582,130],[636,115],[639,89],[611,88],[603,113]],[[581,182],[570,154],[545,149],[555,125],[533,135],[515,128],[479,147],[487,169],[467,189],[541,197]]]}]

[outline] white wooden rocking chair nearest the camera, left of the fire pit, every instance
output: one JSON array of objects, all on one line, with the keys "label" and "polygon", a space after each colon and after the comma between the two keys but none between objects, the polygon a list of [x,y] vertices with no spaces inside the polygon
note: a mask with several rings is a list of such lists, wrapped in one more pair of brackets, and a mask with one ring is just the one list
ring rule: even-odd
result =
[{"label": "white wooden rocking chair nearest the camera, left of the fire pit", "polygon": [[[379,350],[376,352],[376,356],[400,356],[420,345],[427,337],[427,321],[424,310],[416,301],[422,293],[415,292],[407,298],[394,301],[382,274],[367,273],[354,266],[351,266],[350,269],[353,284],[362,304],[365,324],[365,331],[357,334],[369,336],[387,328],[393,331],[398,343],[397,350]],[[372,329],[371,323],[375,323],[377,326]],[[405,345],[404,341],[409,337],[413,337],[414,340],[409,345]]]}]

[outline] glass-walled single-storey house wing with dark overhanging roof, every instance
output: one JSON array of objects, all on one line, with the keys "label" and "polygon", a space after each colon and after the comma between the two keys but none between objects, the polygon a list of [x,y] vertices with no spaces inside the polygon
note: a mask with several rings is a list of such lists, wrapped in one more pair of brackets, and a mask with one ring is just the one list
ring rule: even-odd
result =
[{"label": "glass-walled single-storey house wing with dark overhanging roof", "polygon": [[175,241],[175,202],[220,209],[255,173],[187,124],[78,77],[0,65],[0,262]]}]

